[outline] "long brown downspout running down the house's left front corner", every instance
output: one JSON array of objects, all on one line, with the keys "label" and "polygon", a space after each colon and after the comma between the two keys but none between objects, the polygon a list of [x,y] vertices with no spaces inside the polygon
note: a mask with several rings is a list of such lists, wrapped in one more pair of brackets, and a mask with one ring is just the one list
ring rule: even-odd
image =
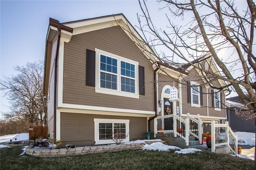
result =
[{"label": "long brown downspout running down the house's left front corner", "polygon": [[61,35],[61,28],[58,26],[58,42],[57,42],[57,49],[55,55],[55,63],[54,63],[54,125],[53,125],[53,138],[56,138],[56,109],[57,109],[57,68],[58,68],[58,56],[59,56],[59,48],[60,48],[60,35]]}]

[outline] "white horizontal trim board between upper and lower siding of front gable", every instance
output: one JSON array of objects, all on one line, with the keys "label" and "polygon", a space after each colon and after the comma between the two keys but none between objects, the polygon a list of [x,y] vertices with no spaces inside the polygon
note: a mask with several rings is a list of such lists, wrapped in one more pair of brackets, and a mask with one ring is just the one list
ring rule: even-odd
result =
[{"label": "white horizontal trim board between upper and lower siding of front gable", "polygon": [[131,116],[131,117],[152,117],[153,111],[139,111],[130,109],[117,109],[109,107],[96,107],[86,105],[62,104],[58,111],[65,113],[82,113],[91,115],[112,115],[112,116]]}]

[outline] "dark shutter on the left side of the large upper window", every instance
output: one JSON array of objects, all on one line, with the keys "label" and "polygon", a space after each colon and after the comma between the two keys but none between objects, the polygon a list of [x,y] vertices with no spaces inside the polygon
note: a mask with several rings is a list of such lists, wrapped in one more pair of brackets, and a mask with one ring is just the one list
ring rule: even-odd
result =
[{"label": "dark shutter on the left side of the large upper window", "polygon": [[95,87],[95,51],[86,49],[86,85]]}]

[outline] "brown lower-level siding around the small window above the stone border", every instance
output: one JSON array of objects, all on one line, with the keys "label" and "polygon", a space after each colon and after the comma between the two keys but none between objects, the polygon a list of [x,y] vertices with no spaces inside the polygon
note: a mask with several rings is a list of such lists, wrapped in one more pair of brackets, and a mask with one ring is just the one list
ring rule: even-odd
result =
[{"label": "brown lower-level siding around the small window above the stone border", "polygon": [[130,120],[130,140],[146,138],[144,133],[147,131],[146,117],[60,113],[60,139],[62,143],[76,143],[77,146],[92,145],[94,141],[94,118]]}]

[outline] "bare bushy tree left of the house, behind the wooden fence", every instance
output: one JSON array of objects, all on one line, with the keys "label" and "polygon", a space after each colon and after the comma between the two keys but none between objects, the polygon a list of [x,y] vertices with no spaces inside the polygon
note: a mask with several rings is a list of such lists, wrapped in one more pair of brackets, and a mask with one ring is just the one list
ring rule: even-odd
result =
[{"label": "bare bushy tree left of the house, behind the wooden fence", "polygon": [[12,77],[0,81],[0,90],[4,91],[10,103],[10,111],[3,113],[8,120],[24,120],[30,125],[47,124],[47,97],[43,93],[44,63],[26,63],[15,66],[18,72]]}]

